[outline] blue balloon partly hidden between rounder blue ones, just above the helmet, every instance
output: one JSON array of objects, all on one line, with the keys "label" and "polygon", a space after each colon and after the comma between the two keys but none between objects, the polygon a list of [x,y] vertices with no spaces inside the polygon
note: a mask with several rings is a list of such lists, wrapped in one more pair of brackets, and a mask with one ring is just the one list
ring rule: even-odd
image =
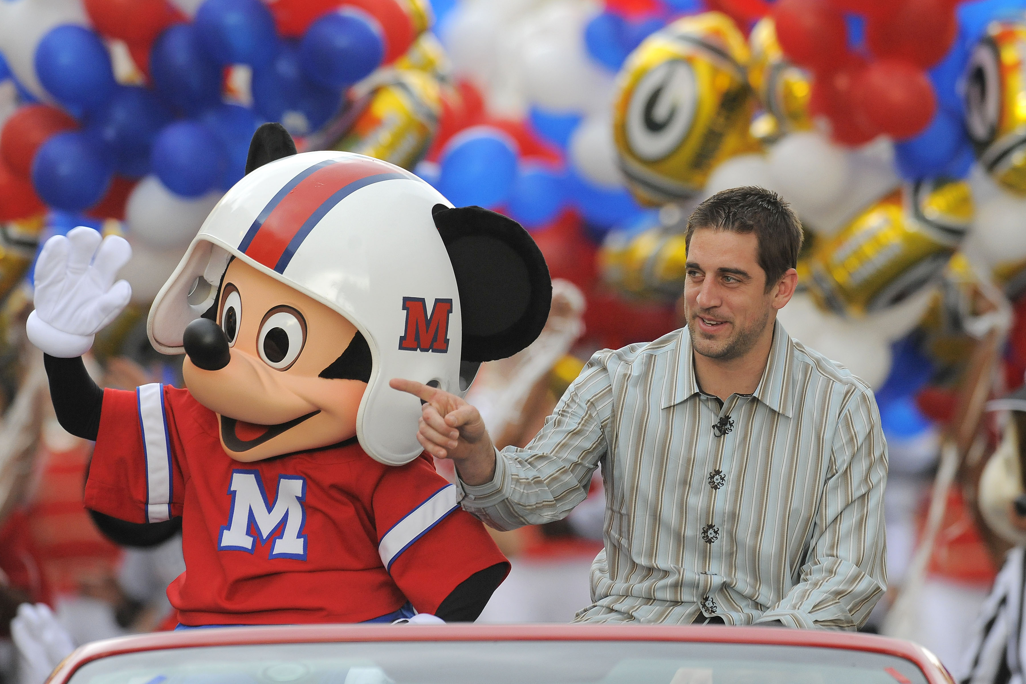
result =
[{"label": "blue balloon partly hidden between rounder blue ones, just above the helmet", "polygon": [[306,77],[300,67],[299,45],[281,41],[274,59],[253,70],[253,108],[268,121],[279,121],[290,133],[318,130],[342,106],[339,90]]}]

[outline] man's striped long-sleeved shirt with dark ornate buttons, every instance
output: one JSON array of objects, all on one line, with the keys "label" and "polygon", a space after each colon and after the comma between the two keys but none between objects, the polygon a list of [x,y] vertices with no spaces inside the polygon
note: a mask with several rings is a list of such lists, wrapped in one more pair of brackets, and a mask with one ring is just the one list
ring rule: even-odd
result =
[{"label": "man's striped long-sleeved shirt with dark ornate buttons", "polygon": [[579,621],[855,629],[886,584],[879,423],[869,387],[779,322],[756,391],[720,402],[682,328],[595,354],[462,505],[498,529],[558,520],[601,466],[605,548]]}]

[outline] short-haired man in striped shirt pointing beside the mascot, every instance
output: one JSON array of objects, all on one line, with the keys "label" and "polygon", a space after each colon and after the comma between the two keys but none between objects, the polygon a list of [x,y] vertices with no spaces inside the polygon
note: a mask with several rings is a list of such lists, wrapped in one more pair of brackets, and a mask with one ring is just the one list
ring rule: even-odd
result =
[{"label": "short-haired man in striped shirt pointing beside the mascot", "polygon": [[885,584],[886,445],[869,387],[792,339],[801,227],[776,194],[723,191],[687,226],[687,326],[595,354],[525,448],[459,397],[419,439],[497,529],[558,520],[601,466],[605,549],[579,621],[854,630]]}]

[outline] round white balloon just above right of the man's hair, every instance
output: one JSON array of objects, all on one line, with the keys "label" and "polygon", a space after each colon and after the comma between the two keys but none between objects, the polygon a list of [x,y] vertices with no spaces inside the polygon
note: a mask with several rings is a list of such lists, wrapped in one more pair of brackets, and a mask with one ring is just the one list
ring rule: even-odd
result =
[{"label": "round white balloon just above right of the man's hair", "polygon": [[774,185],[799,215],[832,206],[849,183],[847,152],[819,132],[785,135],[767,161]]}]

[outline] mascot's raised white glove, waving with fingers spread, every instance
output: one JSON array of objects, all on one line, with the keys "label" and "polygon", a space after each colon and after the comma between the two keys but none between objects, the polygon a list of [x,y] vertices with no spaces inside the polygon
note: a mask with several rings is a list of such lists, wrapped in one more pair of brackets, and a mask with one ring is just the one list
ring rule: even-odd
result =
[{"label": "mascot's raised white glove, waving with fingers spread", "polygon": [[101,244],[91,228],[79,226],[68,237],[47,240],[36,261],[36,310],[26,325],[32,344],[65,359],[88,352],[96,332],[131,297],[127,281],[114,283],[129,258],[127,240],[111,235]]}]

